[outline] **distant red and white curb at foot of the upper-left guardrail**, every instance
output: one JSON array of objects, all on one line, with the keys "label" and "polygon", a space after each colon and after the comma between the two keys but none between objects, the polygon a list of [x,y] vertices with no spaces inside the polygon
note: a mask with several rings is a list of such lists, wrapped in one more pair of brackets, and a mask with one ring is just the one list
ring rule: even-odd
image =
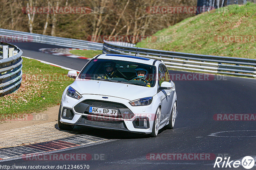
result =
[{"label": "distant red and white curb at foot of the upper-left guardrail", "polygon": [[[53,51],[53,49],[56,49],[56,48],[40,48],[39,51],[41,51],[43,53],[49,53],[49,54],[52,54],[52,55],[60,55],[60,56],[66,56],[66,57],[71,57],[71,58],[79,58],[79,59],[88,59],[86,57],[81,57],[81,56],[74,55],[74,54],[56,52],[56,51]],[[84,48],[59,48],[59,49],[60,49],[60,51],[65,51],[65,50],[66,51],[87,50],[87,49],[84,49]]]}]

